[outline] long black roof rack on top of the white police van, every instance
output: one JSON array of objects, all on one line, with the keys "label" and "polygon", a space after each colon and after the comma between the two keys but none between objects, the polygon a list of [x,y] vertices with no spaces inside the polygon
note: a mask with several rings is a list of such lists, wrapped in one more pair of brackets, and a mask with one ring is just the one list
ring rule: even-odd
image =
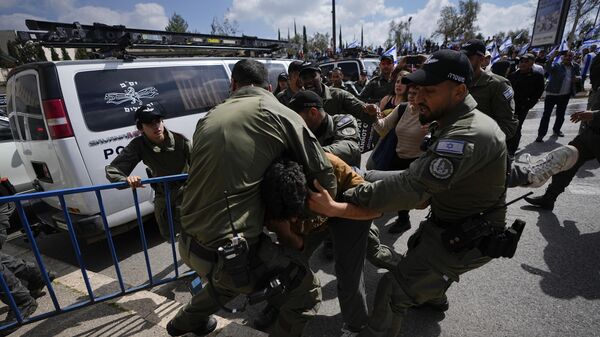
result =
[{"label": "long black roof rack on top of the white police van", "polygon": [[[277,51],[285,53],[288,46],[288,41],[259,39],[246,35],[176,33],[133,29],[123,25],[109,26],[102,23],[82,25],[79,22],[25,20],[25,24],[31,31],[17,32],[18,39],[23,43],[33,41],[44,47],[94,48],[100,50],[101,57],[116,56],[128,59],[134,54],[145,56],[199,54],[236,56],[240,53],[246,56],[273,55]],[[144,53],[143,50],[147,52]],[[173,53],[173,50],[177,52]]]}]

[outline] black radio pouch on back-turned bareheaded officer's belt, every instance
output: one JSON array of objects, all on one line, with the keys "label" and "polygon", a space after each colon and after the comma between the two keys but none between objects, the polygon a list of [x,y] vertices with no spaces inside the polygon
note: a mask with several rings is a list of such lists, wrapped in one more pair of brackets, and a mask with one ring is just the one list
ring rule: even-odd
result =
[{"label": "black radio pouch on back-turned bareheaded officer's belt", "polygon": [[250,284],[250,247],[244,237],[234,236],[231,243],[217,249],[217,255],[223,272],[231,277],[236,287]]}]

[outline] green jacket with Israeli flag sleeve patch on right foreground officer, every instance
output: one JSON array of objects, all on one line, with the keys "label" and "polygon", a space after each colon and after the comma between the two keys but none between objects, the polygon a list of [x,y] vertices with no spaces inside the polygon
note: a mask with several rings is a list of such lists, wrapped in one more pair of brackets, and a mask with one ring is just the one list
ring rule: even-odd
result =
[{"label": "green jacket with Israeli flag sleeve patch on right foreground officer", "polygon": [[[412,209],[431,198],[435,218],[457,221],[505,200],[506,144],[496,122],[480,113],[469,95],[443,117],[427,152],[393,179],[349,190],[349,201],[391,212]],[[489,214],[504,226],[506,207]]]}]

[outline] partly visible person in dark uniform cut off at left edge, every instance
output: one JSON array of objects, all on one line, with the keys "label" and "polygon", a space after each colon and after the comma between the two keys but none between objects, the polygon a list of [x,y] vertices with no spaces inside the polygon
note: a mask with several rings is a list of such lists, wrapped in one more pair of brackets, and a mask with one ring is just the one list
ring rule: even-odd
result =
[{"label": "partly visible person in dark uniform cut off at left edge", "polygon": [[[7,178],[0,180],[0,197],[6,197],[14,194],[14,188]],[[10,228],[10,216],[15,210],[13,203],[0,203],[0,249],[7,240],[7,230]],[[8,289],[21,313],[21,317],[27,318],[35,312],[38,307],[37,298],[43,296],[42,291],[46,282],[42,273],[33,263],[26,262],[23,259],[15,258],[11,255],[0,252],[0,274],[4,278]],[[50,282],[56,275],[48,272]],[[8,296],[0,287],[0,300],[10,308]],[[6,321],[11,322],[16,319],[16,315],[9,310]],[[2,330],[3,335],[13,332],[17,327]]]}]

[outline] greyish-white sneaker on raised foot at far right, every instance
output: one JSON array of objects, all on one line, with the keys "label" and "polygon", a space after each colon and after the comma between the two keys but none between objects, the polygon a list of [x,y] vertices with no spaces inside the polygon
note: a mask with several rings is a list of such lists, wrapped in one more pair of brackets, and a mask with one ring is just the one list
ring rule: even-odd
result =
[{"label": "greyish-white sneaker on raised foot at far right", "polygon": [[532,158],[529,153],[519,157],[517,162],[525,164],[529,171],[527,187],[540,187],[553,175],[573,167],[579,157],[579,151],[572,145],[556,148],[540,158]]}]

